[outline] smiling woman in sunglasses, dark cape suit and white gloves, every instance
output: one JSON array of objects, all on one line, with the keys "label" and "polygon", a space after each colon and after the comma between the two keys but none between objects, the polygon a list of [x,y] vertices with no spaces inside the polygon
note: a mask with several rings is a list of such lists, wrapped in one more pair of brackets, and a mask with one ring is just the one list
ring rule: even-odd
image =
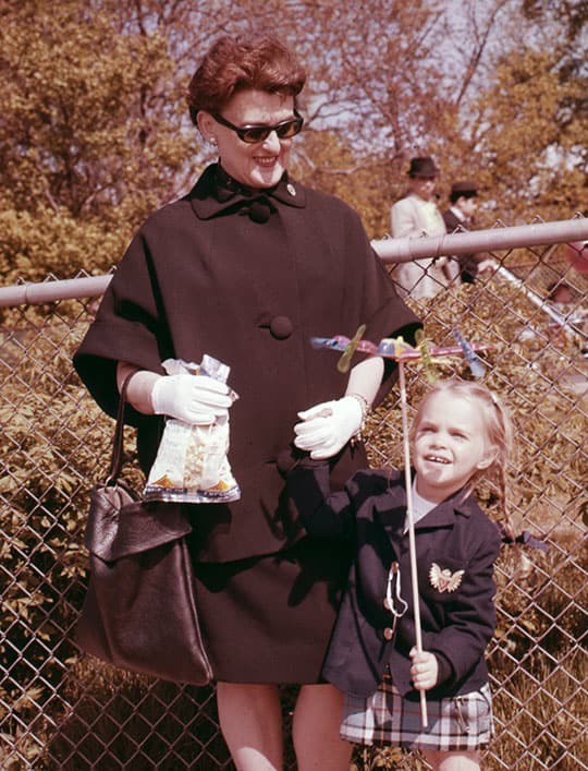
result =
[{"label": "smiling woman in sunglasses, dark cape suit and white gloves", "polygon": [[281,683],[302,684],[293,721],[301,771],[340,771],[350,755],[339,738],[341,695],[320,678],[348,554],[305,533],[277,460],[298,410],[316,407],[303,412],[297,444],[333,456],[336,489],[366,462],[350,438],[393,372],[357,357],[346,382],[309,338],[352,335],[365,323],[367,338],[409,339],[418,326],[359,217],[287,176],[304,82],[272,38],[223,37],[211,47],[188,105],[219,162],[139,229],[74,359],[110,414],[135,373],[127,394],[146,471],[161,429],[154,413],[206,423],[231,403],[224,386],[163,375],[161,362],[209,353],[231,368],[240,398],[229,457],[242,496],[192,507],[192,549],[221,730],[237,769],[255,771],[282,767]]}]

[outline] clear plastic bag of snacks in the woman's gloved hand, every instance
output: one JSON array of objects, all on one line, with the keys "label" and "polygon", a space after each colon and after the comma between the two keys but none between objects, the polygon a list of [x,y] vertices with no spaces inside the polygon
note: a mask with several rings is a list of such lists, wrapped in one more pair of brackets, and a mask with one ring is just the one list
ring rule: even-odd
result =
[{"label": "clear plastic bag of snacks in the woman's gloved hand", "polygon": [[[168,375],[206,375],[226,383],[230,368],[205,354],[200,364],[181,359],[162,363]],[[229,389],[235,401],[238,396]],[[168,418],[157,457],[143,491],[145,501],[175,503],[228,503],[238,501],[240,486],[229,458],[229,418],[209,425],[191,425]]]}]

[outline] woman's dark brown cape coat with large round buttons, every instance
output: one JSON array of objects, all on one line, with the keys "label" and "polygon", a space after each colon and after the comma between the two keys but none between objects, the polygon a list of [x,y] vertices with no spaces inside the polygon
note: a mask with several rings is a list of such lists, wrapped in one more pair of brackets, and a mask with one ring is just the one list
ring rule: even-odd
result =
[{"label": "woman's dark brown cape coat with large round buttons", "polygon": [[[242,498],[198,506],[196,549],[200,561],[225,562],[271,554],[304,535],[287,510],[277,459],[293,439],[297,412],[341,397],[347,380],[338,354],[313,349],[310,337],[351,337],[365,323],[365,339],[412,339],[419,322],[342,201],[285,178],[252,198],[220,184],[217,168],[139,229],[74,364],[110,414],[119,360],[162,372],[167,358],[198,363],[209,353],[230,365],[240,398],[230,410],[229,459]],[[269,207],[267,221],[248,216],[253,200]],[[161,419],[135,412],[131,421],[147,470]],[[363,450],[343,453],[335,480],[365,463]]]}]

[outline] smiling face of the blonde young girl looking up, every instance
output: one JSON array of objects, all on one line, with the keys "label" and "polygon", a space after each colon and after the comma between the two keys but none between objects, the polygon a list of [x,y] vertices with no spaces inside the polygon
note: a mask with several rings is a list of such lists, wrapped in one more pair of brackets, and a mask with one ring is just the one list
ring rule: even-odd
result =
[{"label": "smiling face of the blonde young girl looking up", "polygon": [[481,410],[449,393],[428,398],[416,425],[413,461],[417,493],[441,503],[461,490],[476,471],[488,468],[495,449],[488,446]]}]

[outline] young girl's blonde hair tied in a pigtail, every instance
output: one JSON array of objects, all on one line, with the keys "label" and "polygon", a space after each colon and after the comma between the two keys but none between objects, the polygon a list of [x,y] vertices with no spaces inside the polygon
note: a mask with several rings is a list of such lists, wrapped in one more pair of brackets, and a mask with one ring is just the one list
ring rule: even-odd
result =
[{"label": "young girl's blonde hair tied in a pigtail", "polygon": [[470,480],[471,487],[481,478],[488,478],[497,485],[506,520],[506,465],[513,448],[513,424],[504,403],[489,388],[474,381],[444,380],[438,381],[422,397],[411,426],[409,438],[414,443],[425,406],[437,394],[450,394],[475,405],[480,410],[482,425],[486,432],[485,442],[495,447],[495,456],[486,469],[476,471]]}]

